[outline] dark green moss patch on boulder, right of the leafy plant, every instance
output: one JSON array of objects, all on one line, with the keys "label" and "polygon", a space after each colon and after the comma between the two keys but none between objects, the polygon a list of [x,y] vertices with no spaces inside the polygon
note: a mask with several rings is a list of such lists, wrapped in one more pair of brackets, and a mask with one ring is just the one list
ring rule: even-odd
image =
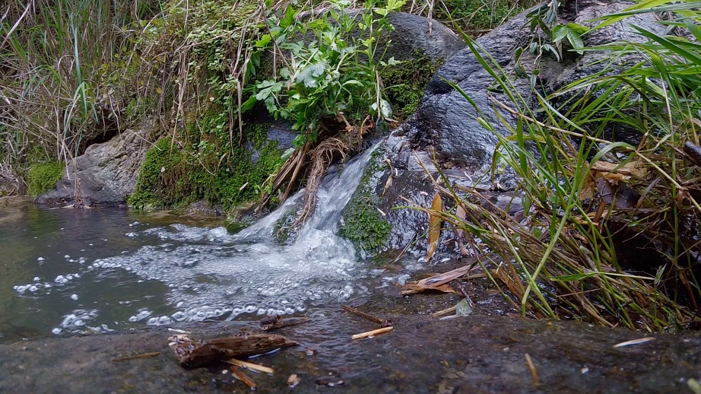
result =
[{"label": "dark green moss patch on boulder, right of the leafy plant", "polygon": [[388,67],[383,72],[385,92],[393,105],[395,117],[404,120],[414,114],[426,91],[428,81],[436,73],[442,60],[433,60],[421,50],[414,50],[414,60]]}]

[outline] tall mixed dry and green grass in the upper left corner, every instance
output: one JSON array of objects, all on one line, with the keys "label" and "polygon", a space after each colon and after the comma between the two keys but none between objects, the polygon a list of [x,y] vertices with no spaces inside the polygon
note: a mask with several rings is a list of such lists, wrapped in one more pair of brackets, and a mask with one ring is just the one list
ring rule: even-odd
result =
[{"label": "tall mixed dry and green grass in the upper left corner", "polygon": [[0,161],[68,161],[114,128],[100,70],[158,1],[8,0],[0,20]]}]

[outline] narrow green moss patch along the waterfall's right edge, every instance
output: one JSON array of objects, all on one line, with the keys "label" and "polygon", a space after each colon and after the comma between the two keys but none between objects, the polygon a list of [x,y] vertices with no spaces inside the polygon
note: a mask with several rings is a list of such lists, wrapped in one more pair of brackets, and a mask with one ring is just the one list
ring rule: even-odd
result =
[{"label": "narrow green moss patch along the waterfall's right edge", "polygon": [[385,168],[379,155],[379,151],[374,153],[372,165],[363,172],[358,189],[343,210],[343,223],[339,227],[339,235],[368,254],[379,252],[392,231],[392,224],[382,219],[377,210],[381,197],[375,193],[378,179],[374,179],[374,175]]}]

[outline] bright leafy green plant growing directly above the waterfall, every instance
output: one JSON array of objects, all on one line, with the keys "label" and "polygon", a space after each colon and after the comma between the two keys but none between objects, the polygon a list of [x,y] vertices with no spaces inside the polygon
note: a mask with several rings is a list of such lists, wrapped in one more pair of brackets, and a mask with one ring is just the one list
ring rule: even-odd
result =
[{"label": "bright leafy green plant growing directly above the waterfall", "polygon": [[282,16],[269,12],[269,33],[257,46],[289,51],[290,61],[273,78],[257,83],[246,105],[265,102],[271,114],[292,121],[304,141],[312,142],[329,119],[342,116],[355,123],[367,114],[389,118],[392,111],[379,75],[396,62],[381,61],[379,36],[393,29],[386,16],[404,2],[388,0],[381,8],[370,2],[366,11],[351,11],[350,1],[334,0],[328,13],[306,20],[292,6]]}]

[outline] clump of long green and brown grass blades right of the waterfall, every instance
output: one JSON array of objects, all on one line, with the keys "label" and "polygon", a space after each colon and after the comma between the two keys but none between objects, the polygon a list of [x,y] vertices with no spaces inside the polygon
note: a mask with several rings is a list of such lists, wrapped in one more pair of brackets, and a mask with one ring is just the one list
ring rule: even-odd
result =
[{"label": "clump of long green and brown grass blades right of the waterfall", "polygon": [[[698,2],[663,3],[644,1],[601,18],[594,29],[635,13],[664,12],[660,23],[670,34],[637,28],[645,43],[577,48],[623,65],[547,97],[535,88],[524,97],[468,38],[494,88],[508,97],[491,100],[509,136],[496,133],[476,106],[475,117],[499,138],[495,163],[505,161],[519,177],[524,218],[484,208],[486,199],[470,203],[450,186],[439,187],[468,217],[442,215],[477,237],[473,247],[483,263],[498,255],[485,269],[524,314],[651,332],[676,330],[697,317],[701,163],[683,154],[683,144],[698,143],[701,46],[671,33],[688,29],[701,41],[701,13]],[[612,140],[608,130],[626,130],[639,142]],[[696,226],[692,236],[684,235],[688,223]],[[644,247],[626,254],[631,240]]]}]

